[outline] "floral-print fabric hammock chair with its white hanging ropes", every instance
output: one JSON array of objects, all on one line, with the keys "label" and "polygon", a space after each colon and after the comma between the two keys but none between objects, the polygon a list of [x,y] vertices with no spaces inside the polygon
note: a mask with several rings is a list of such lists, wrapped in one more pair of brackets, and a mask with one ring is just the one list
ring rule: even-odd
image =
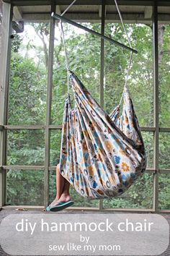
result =
[{"label": "floral-print fabric hammock chair with its white hanging ropes", "polygon": [[[122,22],[121,14],[120,19]],[[59,162],[61,175],[80,195],[89,199],[122,195],[146,171],[143,138],[127,88],[133,52],[120,99],[120,103],[123,100],[122,114],[120,104],[107,114],[69,69],[62,22],[61,33],[68,73]],[[128,41],[130,44],[129,38]],[[69,81],[75,100],[72,109]]]}]

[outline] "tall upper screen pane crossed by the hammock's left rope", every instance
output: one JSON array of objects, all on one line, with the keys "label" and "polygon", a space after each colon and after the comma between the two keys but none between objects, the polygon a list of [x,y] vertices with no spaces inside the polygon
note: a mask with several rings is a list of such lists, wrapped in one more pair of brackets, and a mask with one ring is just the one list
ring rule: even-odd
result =
[{"label": "tall upper screen pane crossed by the hammock's left rope", "polygon": [[[101,25],[82,24],[97,32]],[[68,24],[63,24],[66,38],[66,48],[68,51],[68,60],[70,69],[84,83],[91,95],[99,103],[99,85],[100,85],[100,38],[86,33]],[[58,28],[55,25],[55,49],[53,63],[53,95],[52,95],[52,124],[61,124],[63,121],[63,111],[67,96],[67,74],[65,54],[63,51],[63,42]],[[71,108],[74,107],[73,92],[70,88]]]}]

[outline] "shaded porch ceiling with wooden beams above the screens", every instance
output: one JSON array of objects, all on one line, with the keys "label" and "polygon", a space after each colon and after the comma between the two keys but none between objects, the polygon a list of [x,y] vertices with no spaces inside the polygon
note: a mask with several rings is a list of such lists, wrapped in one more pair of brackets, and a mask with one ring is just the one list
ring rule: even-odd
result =
[{"label": "shaded porch ceiling with wooden beams above the screens", "polygon": [[[10,1],[14,5],[14,20],[24,22],[42,22],[50,20],[50,3],[52,1]],[[61,14],[71,1],[58,0],[55,12]],[[65,17],[76,22],[101,22],[102,0],[77,0],[66,12]],[[170,24],[170,1],[158,2],[158,22]],[[106,14],[105,22],[120,22],[114,0],[105,0]],[[153,14],[153,1],[117,1],[119,4],[122,20],[129,23],[150,24]]]}]

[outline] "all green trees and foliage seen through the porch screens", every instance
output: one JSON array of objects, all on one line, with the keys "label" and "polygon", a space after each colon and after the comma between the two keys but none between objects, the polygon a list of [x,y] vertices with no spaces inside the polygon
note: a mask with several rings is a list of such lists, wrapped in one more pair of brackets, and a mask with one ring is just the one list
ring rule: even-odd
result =
[{"label": "all green trees and foliage seen through the porch screens", "polygon": [[[42,45],[37,45],[32,35],[15,35],[12,41],[11,78],[9,90],[8,124],[45,125],[49,24],[30,24]],[[85,24],[100,32],[100,24]],[[140,126],[153,126],[153,48],[152,30],[146,25],[126,25],[133,48],[128,88]],[[25,25],[27,28],[27,25]],[[159,29],[161,29],[161,25]],[[70,69],[84,82],[93,97],[100,103],[100,46],[101,41],[89,33],[77,33],[76,28],[64,24],[66,48]],[[67,95],[66,65],[61,36],[56,25],[53,63],[53,91],[50,124],[61,124]],[[120,24],[105,26],[105,34],[127,44]],[[159,99],[160,126],[169,127],[169,35],[170,26],[164,30],[163,44],[159,44]],[[161,36],[161,35],[160,35]],[[109,114],[120,102],[130,53],[122,48],[104,43],[104,110]],[[73,93],[71,92],[73,108]],[[7,135],[8,165],[44,165],[44,130],[12,130]],[[153,133],[143,132],[148,168],[153,168]],[[50,131],[50,166],[59,162],[61,131]],[[170,137],[160,135],[160,168],[169,167]],[[55,198],[55,171],[50,171],[50,200]],[[43,205],[44,175],[42,171],[9,170],[6,175],[6,202],[13,205]],[[169,175],[159,175],[159,208],[169,209]],[[99,200],[85,200],[71,187],[75,206],[99,206]],[[151,208],[153,206],[153,174],[143,174],[127,192],[112,200],[104,200],[104,208]]]}]

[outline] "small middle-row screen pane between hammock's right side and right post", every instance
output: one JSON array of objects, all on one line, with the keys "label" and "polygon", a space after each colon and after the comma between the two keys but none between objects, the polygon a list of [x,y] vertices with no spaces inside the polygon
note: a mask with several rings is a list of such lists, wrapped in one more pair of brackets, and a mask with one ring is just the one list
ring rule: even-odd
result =
[{"label": "small middle-row screen pane between hammock's right side and right post", "polygon": [[142,132],[142,136],[146,148],[146,168],[153,168],[153,132]]}]

